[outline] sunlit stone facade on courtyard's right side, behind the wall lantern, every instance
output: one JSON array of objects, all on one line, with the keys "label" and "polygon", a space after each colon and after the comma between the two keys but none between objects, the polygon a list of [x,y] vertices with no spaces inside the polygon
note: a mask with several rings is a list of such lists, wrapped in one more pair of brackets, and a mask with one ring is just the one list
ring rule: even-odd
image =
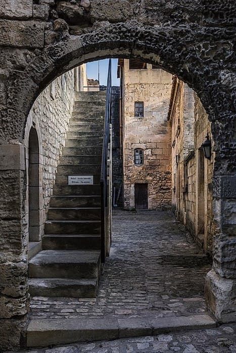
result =
[{"label": "sunlit stone facade on courtyard's right side, behind the wall lantern", "polygon": [[[172,207],[201,247],[212,254],[212,175],[214,140],[208,114],[196,93],[173,77],[169,109],[172,145]],[[202,144],[209,135],[211,157],[204,157]]]}]

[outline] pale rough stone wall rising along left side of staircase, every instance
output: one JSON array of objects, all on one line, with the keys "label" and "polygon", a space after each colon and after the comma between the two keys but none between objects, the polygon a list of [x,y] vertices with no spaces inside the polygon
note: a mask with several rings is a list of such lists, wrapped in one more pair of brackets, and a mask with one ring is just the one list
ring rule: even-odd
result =
[{"label": "pale rough stone wall rising along left side of staircase", "polygon": [[[28,137],[34,125],[39,136],[40,150],[40,240],[56,178],[57,165],[65,145],[66,132],[74,104],[74,70],[53,81],[35,100],[26,124],[26,170],[28,169]],[[28,174],[28,173],[27,173]],[[28,189],[28,182],[27,182]],[[26,210],[28,197],[26,197]],[[28,214],[26,213],[26,218]],[[35,239],[36,240],[36,239]]]}]

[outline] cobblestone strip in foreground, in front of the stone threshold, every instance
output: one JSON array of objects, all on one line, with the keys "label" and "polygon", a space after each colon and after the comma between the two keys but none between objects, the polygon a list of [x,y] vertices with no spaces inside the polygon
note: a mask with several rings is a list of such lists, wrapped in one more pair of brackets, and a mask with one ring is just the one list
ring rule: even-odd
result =
[{"label": "cobblestone strip in foreground, in front of the stone threshold", "polygon": [[76,343],[30,353],[224,353],[236,352],[236,324],[158,336]]}]

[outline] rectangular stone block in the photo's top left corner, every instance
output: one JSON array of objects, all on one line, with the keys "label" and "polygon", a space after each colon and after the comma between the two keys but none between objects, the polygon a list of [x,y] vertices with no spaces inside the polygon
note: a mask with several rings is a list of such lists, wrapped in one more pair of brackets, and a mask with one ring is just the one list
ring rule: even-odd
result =
[{"label": "rectangular stone block in the photo's top left corner", "polygon": [[0,18],[32,17],[33,0],[0,0]]}]

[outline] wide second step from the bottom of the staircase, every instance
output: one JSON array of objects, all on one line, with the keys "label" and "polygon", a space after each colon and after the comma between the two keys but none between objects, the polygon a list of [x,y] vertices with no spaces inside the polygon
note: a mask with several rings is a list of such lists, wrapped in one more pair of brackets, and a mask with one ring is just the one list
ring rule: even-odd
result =
[{"label": "wide second step from the bottom of the staircase", "polygon": [[30,278],[98,278],[100,251],[43,250],[29,261]]}]

